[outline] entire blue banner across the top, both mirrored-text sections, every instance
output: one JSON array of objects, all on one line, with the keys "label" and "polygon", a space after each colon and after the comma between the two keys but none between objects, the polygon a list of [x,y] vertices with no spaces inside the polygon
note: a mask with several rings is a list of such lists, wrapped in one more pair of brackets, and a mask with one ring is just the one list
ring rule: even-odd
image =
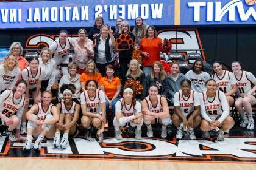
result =
[{"label": "entire blue banner across the top, both mirrored-text sections", "polygon": [[255,0],[95,0],[1,2],[0,29],[92,27],[97,16],[115,25],[118,17],[134,25],[255,24]]}]

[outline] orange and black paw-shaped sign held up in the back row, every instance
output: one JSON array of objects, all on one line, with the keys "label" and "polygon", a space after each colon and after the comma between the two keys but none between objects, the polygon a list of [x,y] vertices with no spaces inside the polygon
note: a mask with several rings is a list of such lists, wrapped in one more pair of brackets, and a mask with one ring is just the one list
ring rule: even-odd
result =
[{"label": "orange and black paw-shaped sign held up in the back row", "polygon": [[116,39],[116,46],[118,49],[129,50],[133,42],[134,41],[130,34],[124,34],[124,32],[122,32],[121,35],[119,35],[119,38]]}]

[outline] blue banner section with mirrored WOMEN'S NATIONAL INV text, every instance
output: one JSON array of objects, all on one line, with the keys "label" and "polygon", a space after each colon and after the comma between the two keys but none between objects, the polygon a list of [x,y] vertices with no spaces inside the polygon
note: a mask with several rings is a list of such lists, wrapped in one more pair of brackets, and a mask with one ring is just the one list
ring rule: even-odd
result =
[{"label": "blue banner section with mirrored WOMEN'S NATIONAL INV text", "polygon": [[0,28],[92,27],[103,16],[115,25],[118,17],[134,24],[141,16],[149,25],[173,25],[174,7],[170,0],[130,1],[36,1],[1,2]]}]

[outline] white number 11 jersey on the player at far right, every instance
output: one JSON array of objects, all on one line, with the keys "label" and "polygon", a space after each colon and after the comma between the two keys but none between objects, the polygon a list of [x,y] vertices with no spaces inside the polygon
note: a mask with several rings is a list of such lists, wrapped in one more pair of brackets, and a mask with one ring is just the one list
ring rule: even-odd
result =
[{"label": "white number 11 jersey on the player at far right", "polygon": [[239,78],[239,77],[236,77],[235,75],[235,78],[237,81],[236,85],[238,87],[237,94],[239,97],[244,97],[244,95],[246,95],[252,89],[251,81],[247,77],[247,72],[242,71],[241,77]]}]

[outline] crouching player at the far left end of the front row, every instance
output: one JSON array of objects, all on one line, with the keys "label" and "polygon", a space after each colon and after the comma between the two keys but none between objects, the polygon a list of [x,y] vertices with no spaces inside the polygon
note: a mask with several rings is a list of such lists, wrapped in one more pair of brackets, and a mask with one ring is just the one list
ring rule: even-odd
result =
[{"label": "crouching player at the far left end of the front row", "polygon": [[[27,83],[20,80],[15,92],[5,90],[0,95],[0,125],[7,126],[7,135],[10,141],[16,141],[12,131],[16,129],[16,137],[20,138],[21,117],[24,110]],[[15,115],[16,113],[16,115]]]}]

